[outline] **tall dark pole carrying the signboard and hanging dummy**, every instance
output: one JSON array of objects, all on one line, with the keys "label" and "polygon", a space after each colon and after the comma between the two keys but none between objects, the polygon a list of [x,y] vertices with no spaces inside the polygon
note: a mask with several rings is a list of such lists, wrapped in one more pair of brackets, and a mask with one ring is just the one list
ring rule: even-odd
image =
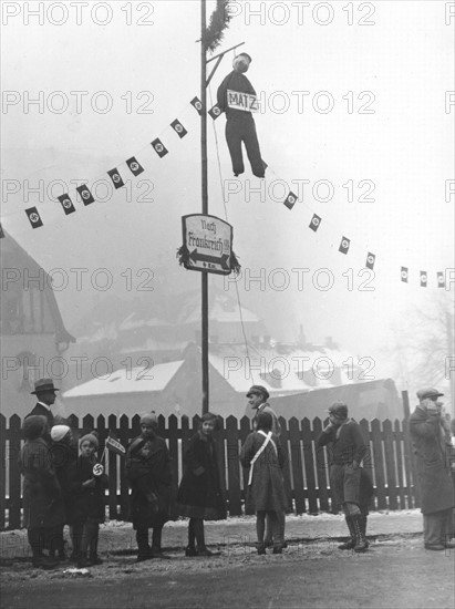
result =
[{"label": "tall dark pole carrying the signboard and hanging dummy", "polygon": [[[200,0],[200,161],[203,214],[208,214],[207,188],[207,68],[204,33],[206,30],[206,0]],[[208,272],[201,272],[201,363],[203,363],[203,414],[208,412]]]}]

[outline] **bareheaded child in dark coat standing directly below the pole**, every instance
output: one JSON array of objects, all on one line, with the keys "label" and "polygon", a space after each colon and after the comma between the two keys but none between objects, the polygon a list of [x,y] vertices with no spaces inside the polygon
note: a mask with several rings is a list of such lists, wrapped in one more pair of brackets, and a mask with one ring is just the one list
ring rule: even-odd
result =
[{"label": "bareheaded child in dark coat standing directly below the pole", "polygon": [[[213,437],[218,417],[207,412],[184,455],[184,475],[178,488],[179,514],[189,517],[186,556],[213,556],[205,544],[204,520],[223,520],[226,506]],[[197,543],[197,549],[196,549]]]}]

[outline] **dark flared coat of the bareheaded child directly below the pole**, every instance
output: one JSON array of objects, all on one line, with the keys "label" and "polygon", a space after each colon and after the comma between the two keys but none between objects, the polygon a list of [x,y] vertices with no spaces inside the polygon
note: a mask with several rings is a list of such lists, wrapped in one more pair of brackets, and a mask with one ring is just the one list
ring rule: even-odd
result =
[{"label": "dark flared coat of the bareheaded child directly below the pole", "polygon": [[182,505],[215,508],[220,517],[226,514],[215,441],[200,430],[188,441],[177,502]]}]

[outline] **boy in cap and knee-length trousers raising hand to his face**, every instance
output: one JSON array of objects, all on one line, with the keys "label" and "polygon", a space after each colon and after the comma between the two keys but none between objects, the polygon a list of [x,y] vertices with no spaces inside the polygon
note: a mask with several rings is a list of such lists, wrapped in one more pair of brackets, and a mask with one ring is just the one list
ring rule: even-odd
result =
[{"label": "boy in cap and knee-length trousers raising hand to his face", "polygon": [[368,446],[359,423],[348,417],[348,405],[334,402],[329,407],[329,425],[318,437],[318,446],[332,444],[330,466],[330,487],[335,502],[343,507],[345,522],[351,534],[351,543],[340,549],[365,551],[369,544],[365,538],[366,516],[362,514],[360,464]]}]

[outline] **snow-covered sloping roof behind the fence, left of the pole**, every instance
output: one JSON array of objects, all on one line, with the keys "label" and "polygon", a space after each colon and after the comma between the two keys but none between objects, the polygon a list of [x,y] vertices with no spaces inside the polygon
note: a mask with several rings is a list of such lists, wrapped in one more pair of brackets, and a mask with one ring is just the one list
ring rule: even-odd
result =
[{"label": "snow-covered sloping roof behind the fence, left of the pole", "polygon": [[70,389],[62,398],[89,398],[118,393],[144,393],[163,391],[173,379],[184,360],[156,364],[151,369],[121,368],[107,378],[97,378]]}]

